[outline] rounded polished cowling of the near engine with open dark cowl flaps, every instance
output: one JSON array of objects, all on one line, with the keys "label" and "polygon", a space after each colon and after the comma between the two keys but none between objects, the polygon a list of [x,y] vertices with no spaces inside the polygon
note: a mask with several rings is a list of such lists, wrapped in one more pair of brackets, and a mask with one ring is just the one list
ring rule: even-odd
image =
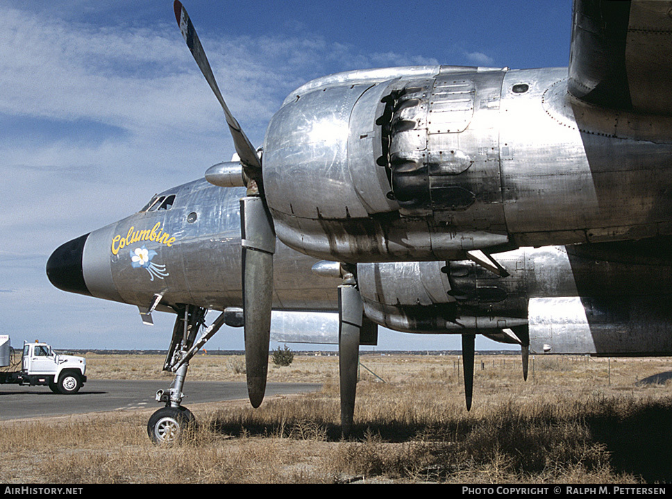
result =
[{"label": "rounded polished cowling of the near engine with open dark cowl flaps", "polygon": [[264,142],[276,233],[344,262],[446,260],[509,241],[498,103],[504,71],[355,71],[289,96]]}]

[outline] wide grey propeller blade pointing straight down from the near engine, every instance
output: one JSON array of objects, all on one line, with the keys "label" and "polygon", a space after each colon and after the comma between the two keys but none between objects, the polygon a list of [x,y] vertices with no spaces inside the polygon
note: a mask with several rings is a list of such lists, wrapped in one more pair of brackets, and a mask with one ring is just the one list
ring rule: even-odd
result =
[{"label": "wide grey propeller blade pointing straight down from the near engine", "polygon": [[268,375],[276,235],[259,196],[240,200],[240,218],[247,392],[252,407],[259,407]]}]

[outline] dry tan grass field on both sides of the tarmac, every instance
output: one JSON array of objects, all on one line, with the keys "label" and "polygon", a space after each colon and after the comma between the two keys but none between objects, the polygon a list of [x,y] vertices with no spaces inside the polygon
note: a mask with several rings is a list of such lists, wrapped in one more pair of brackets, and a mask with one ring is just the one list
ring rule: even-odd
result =
[{"label": "dry tan grass field on both sides of the tarmac", "polygon": [[[231,361],[197,357],[189,379],[244,380]],[[477,356],[471,412],[458,357],[362,362],[386,382],[362,369],[348,441],[338,427],[337,358],[296,356],[271,367],[269,380],[321,382],[321,391],[260,409],[190,406],[199,428],[173,448],[149,443],[147,411],[5,423],[0,482],[672,480],[666,359],[535,357],[523,382],[516,357]],[[160,357],[87,355],[91,378],[163,378],[161,365]]]}]

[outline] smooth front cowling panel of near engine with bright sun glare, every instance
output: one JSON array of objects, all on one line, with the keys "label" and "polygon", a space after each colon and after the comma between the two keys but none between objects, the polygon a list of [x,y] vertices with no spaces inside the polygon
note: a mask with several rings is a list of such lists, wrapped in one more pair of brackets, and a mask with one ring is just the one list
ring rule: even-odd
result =
[{"label": "smooth front cowling panel of near engine with bright sun glare", "polygon": [[274,115],[264,141],[264,192],[274,211],[310,219],[368,216],[348,169],[348,137],[355,102],[369,87],[314,90]]}]

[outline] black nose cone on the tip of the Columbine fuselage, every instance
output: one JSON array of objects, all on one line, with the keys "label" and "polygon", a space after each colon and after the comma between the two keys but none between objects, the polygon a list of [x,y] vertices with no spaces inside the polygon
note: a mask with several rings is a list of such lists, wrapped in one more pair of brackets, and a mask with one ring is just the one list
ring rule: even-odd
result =
[{"label": "black nose cone on the tip of the Columbine fuselage", "polygon": [[92,296],[84,282],[82,255],[84,253],[85,234],[61,244],[47,260],[47,277],[51,284],[70,293]]}]

